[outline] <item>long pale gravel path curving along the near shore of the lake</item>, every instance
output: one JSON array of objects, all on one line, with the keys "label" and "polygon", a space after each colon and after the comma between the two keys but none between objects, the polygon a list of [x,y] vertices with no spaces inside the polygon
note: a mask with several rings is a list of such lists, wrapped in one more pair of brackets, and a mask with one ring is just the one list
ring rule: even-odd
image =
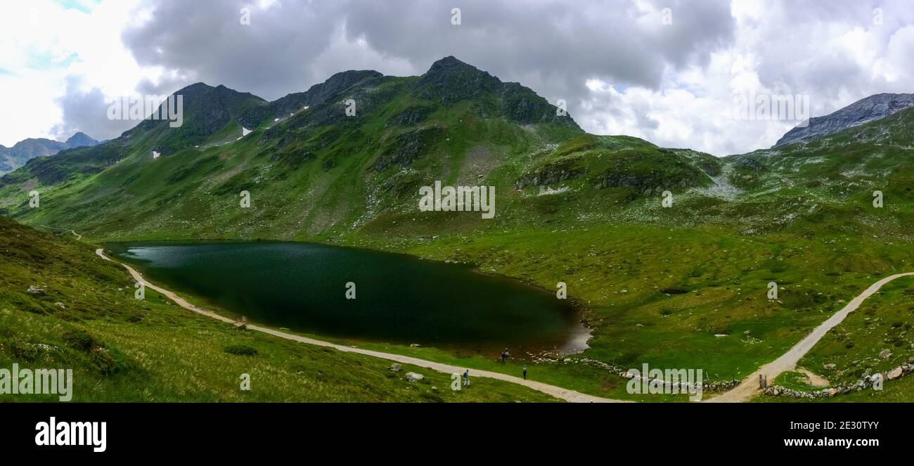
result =
[{"label": "long pale gravel path curving along the near shore of the lake", "polygon": [[[101,259],[111,260],[111,259],[108,259],[107,256],[105,256],[104,251],[102,249],[95,249],[95,253],[98,254],[99,257],[101,257]],[[113,260],[112,260],[112,262],[113,262]],[[117,262],[117,263],[120,263],[120,262]],[[133,276],[133,280],[139,281],[139,282],[143,283],[143,285],[153,289],[154,291],[158,291],[158,292],[162,293],[163,295],[165,295],[165,297],[167,297],[168,299],[177,303],[179,306],[185,308],[186,310],[192,311],[192,312],[197,312],[198,314],[201,314],[201,315],[206,315],[207,317],[211,317],[213,319],[216,319],[216,320],[224,322],[224,323],[231,323],[231,324],[236,323],[235,320],[229,319],[228,317],[226,317],[224,315],[219,315],[216,312],[211,312],[211,311],[207,311],[205,309],[198,308],[197,306],[191,304],[190,302],[187,302],[184,298],[181,298],[180,296],[176,295],[174,292],[165,290],[164,288],[161,288],[159,286],[156,286],[156,285],[150,283],[149,281],[146,281],[143,278],[143,275],[140,272],[133,270],[132,267],[130,267],[126,264],[123,264],[123,263],[121,263],[121,265],[125,269],[127,269],[127,271],[130,272],[130,274]],[[247,325],[250,330],[262,332],[264,334],[271,334],[273,336],[285,338],[286,340],[292,340],[292,341],[300,342],[303,344],[314,344],[315,346],[324,346],[324,347],[328,347],[328,348],[334,348],[335,350],[343,351],[345,353],[356,353],[359,355],[374,356],[374,357],[378,357],[381,359],[388,359],[390,361],[396,361],[398,363],[403,363],[403,364],[419,365],[420,367],[425,367],[428,369],[436,370],[438,372],[443,372],[445,374],[463,374],[463,371],[467,369],[466,367],[459,367],[457,365],[446,365],[446,364],[441,364],[441,363],[435,363],[432,361],[427,361],[425,359],[419,359],[416,357],[410,357],[410,356],[405,356],[405,355],[394,355],[392,353],[382,353],[379,351],[372,351],[372,350],[361,349],[361,348],[353,348],[350,346],[344,346],[342,344],[332,344],[329,342],[324,342],[323,340],[315,340],[314,338],[307,338],[307,337],[304,337],[301,335],[288,334],[285,332],[281,332],[279,330],[273,330],[271,328],[261,327],[260,325],[253,325],[250,323],[248,323]],[[574,390],[569,390],[567,388],[556,387],[556,386],[544,384],[541,382],[535,382],[533,380],[525,380],[521,377],[507,376],[505,374],[501,374],[498,372],[490,372],[490,371],[484,371],[484,370],[479,370],[479,369],[470,369],[470,376],[494,378],[496,380],[503,380],[505,382],[511,382],[511,383],[514,383],[517,385],[522,385],[524,387],[533,388],[534,390],[541,391],[543,393],[546,393],[547,395],[551,395],[553,397],[558,397],[558,398],[564,399],[565,401],[570,401],[570,402],[574,402],[574,403],[624,403],[625,402],[622,400],[616,400],[616,399],[610,399],[610,398],[593,397],[593,396],[590,396],[590,395],[587,395],[584,393],[576,392]]]}]

